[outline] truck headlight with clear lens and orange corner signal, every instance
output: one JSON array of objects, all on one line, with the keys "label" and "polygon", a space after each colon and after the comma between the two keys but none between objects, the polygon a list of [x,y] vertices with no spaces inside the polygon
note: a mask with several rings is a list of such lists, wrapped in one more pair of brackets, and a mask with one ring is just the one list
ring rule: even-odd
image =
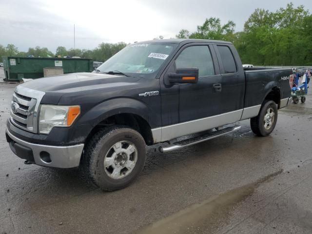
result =
[{"label": "truck headlight with clear lens and orange corner signal", "polygon": [[80,106],[41,105],[39,133],[48,134],[54,126],[69,127],[80,114]]}]

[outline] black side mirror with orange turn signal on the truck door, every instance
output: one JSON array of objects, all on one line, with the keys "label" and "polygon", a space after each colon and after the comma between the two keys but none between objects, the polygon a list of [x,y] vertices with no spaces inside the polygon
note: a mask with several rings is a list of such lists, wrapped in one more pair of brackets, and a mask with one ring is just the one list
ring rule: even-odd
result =
[{"label": "black side mirror with orange turn signal on the truck door", "polygon": [[168,77],[171,84],[194,84],[198,81],[198,68],[178,68],[176,69],[176,73],[169,73]]}]

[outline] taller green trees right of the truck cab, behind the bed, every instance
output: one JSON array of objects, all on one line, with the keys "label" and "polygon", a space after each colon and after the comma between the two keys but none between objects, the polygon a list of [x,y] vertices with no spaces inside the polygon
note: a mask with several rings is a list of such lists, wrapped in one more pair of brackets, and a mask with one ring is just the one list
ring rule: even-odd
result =
[{"label": "taller green trees right of the truck cab, behind the bed", "polygon": [[291,2],[275,12],[255,9],[242,32],[234,27],[233,21],[222,25],[209,18],[195,32],[181,29],[176,38],[231,41],[247,64],[312,66],[312,15],[303,5]]}]

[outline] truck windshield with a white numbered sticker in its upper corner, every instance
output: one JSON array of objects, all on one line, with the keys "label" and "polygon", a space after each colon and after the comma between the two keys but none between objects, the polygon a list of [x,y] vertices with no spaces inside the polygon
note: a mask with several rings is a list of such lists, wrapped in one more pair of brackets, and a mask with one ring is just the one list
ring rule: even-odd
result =
[{"label": "truck windshield with a white numbered sticker in its upper corner", "polygon": [[160,66],[176,48],[170,43],[135,43],[128,45],[97,68],[100,73],[155,78]]}]

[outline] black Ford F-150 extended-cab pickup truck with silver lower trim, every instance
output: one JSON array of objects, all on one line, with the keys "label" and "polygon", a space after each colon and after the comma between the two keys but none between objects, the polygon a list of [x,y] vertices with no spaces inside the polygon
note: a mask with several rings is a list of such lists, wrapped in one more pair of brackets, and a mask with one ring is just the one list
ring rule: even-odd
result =
[{"label": "black Ford F-150 extended-cab pickup truck with silver lower trim", "polygon": [[230,42],[134,43],[93,73],[17,86],[6,138],[26,164],[80,167],[103,190],[120,189],[142,170],[146,145],[180,149],[249,118],[257,136],[268,136],[289,102],[292,70],[247,70]]}]

